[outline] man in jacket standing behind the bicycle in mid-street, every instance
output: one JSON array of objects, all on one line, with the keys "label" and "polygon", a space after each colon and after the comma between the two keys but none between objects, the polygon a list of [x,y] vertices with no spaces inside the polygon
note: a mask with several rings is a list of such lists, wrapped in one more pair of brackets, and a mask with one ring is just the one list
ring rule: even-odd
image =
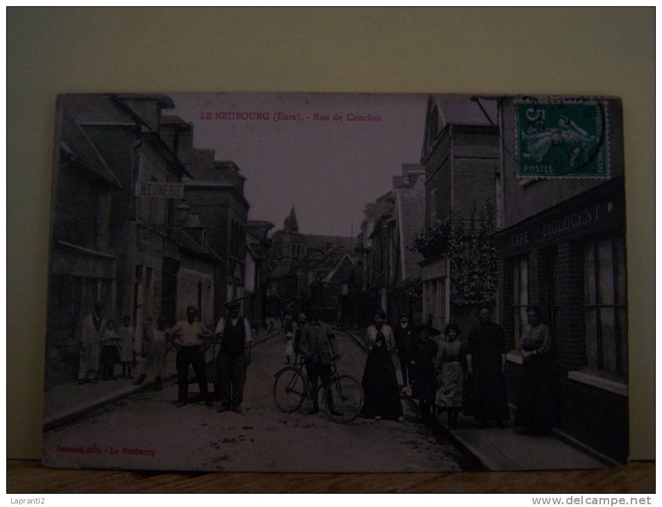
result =
[{"label": "man in jacket standing behind the bicycle in mid-street", "polygon": [[[319,311],[313,311],[311,317],[311,322],[308,322],[301,331],[301,341],[299,342],[299,348],[304,354],[306,362],[308,381],[311,383],[311,393],[313,393],[313,407],[308,411],[309,415],[320,411],[317,403],[317,383],[320,379],[324,383],[331,377],[333,374],[331,364],[338,356],[338,343],[336,336],[331,332],[331,326],[320,320]],[[329,397],[327,401],[331,415],[342,415],[333,408],[333,397],[330,392]]]}]

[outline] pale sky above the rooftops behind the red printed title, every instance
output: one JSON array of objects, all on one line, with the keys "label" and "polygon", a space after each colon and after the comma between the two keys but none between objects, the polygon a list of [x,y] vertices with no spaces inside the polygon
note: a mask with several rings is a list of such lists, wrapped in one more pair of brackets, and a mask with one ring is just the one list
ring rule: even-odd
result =
[{"label": "pale sky above the rooftops behind the red printed title", "polygon": [[356,235],[365,203],[420,162],[425,95],[168,95],[176,107],[163,114],[192,122],[196,148],[241,168],[249,219],[276,228],[294,203],[301,232],[349,236],[354,224]]}]

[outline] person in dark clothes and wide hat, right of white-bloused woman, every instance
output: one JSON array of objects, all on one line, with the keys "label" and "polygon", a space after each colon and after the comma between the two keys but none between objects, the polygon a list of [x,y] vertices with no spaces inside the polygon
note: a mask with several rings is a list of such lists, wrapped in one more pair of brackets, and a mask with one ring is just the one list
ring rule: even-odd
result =
[{"label": "person in dark clothes and wide hat, right of white-bloused woman", "polygon": [[440,331],[427,324],[422,324],[416,328],[418,337],[414,349],[416,380],[413,383],[411,397],[418,400],[421,420],[425,424],[434,422],[432,410],[437,394],[437,342],[432,340],[432,337],[440,334]]}]

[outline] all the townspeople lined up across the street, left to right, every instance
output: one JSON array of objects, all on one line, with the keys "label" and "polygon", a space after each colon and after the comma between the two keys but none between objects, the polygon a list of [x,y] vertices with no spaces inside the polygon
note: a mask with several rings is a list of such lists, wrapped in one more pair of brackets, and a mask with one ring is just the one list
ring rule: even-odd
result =
[{"label": "all the townspeople lined up across the street, left to right", "polygon": [[[132,379],[135,332],[129,316],[115,329],[113,320],[102,317],[104,306],[94,305],[83,319],[78,383],[115,379],[115,365],[122,364],[121,378]],[[240,315],[240,304],[228,306],[228,315],[210,331],[198,321],[198,310],[189,306],[186,319],[165,329],[163,319],[143,322],[139,385],[151,372],[156,388],[163,388],[165,360],[168,351],[176,351],[178,383],[177,406],[188,403],[189,367],[195,371],[201,398],[208,406],[213,399],[208,392],[205,352],[211,343],[220,344],[215,358],[216,383],[220,392],[219,412],[242,412],[245,373],[250,357],[253,331]],[[447,413],[447,427],[458,426],[458,415],[473,416],[477,426],[493,424],[504,427],[510,418],[506,395],[506,340],[504,329],[491,320],[489,306],[479,308],[478,322],[464,339],[454,323],[443,333],[429,324],[413,326],[408,315],[399,316],[392,329],[386,314],[379,310],[374,324],[366,331],[367,358],[361,379],[365,396],[363,417],[404,421],[402,395],[411,394],[418,401],[422,422],[435,424],[437,415]],[[554,422],[552,369],[552,336],[549,326],[540,322],[540,308],[527,309],[528,326],[524,326],[518,349],[522,357],[520,392],[515,426],[531,434],[547,433]],[[333,374],[332,365],[340,358],[333,329],[320,319],[320,312],[283,317],[284,355],[288,364],[303,360],[312,392]],[[319,404],[313,397],[308,413],[317,413]],[[335,414],[333,399],[328,406]]]}]

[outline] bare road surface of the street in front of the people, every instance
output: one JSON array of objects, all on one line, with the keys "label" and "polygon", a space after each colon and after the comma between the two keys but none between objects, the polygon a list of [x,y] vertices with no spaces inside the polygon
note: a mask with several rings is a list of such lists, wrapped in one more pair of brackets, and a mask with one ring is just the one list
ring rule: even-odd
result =
[{"label": "bare road surface of the street in front of the people", "polygon": [[[365,352],[342,332],[338,332],[338,346],[340,372],[360,381]],[[217,413],[218,404],[208,408],[201,402],[176,408],[174,381],[160,392],[144,391],[108,404],[85,419],[45,433],[44,463],[48,465],[57,454],[62,467],[254,472],[481,467],[449,433],[433,432],[420,424],[408,400],[403,399],[406,422],[358,418],[352,424],[337,424],[322,412],[281,413],[272,388],[274,375],[283,366],[281,336],[254,347],[241,414]],[[196,391],[197,386],[191,389]]]}]

